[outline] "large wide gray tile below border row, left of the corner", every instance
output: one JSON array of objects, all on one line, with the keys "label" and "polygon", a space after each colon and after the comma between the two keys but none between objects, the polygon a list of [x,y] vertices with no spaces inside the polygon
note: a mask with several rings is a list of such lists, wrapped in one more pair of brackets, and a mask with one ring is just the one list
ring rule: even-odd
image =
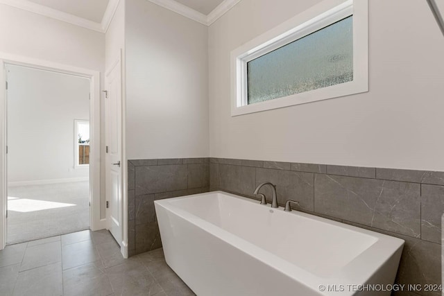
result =
[{"label": "large wide gray tile below border row, left of the corner", "polygon": [[187,189],[187,164],[137,166],[135,195]]}]

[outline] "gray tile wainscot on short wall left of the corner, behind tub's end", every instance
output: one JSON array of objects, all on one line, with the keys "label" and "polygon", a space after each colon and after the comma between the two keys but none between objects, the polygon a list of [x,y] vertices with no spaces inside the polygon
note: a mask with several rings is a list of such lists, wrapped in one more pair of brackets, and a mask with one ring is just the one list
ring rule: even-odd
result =
[{"label": "gray tile wainscot on short wall left of the corner, behind tub's end", "polygon": [[130,256],[162,246],[154,200],[209,191],[208,158],[128,160]]}]

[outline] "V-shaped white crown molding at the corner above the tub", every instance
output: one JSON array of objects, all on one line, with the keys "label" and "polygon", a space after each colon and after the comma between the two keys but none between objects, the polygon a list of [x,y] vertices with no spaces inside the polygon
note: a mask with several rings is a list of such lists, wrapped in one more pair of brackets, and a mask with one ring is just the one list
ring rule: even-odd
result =
[{"label": "V-shaped white crown molding at the corner above the tub", "polygon": [[188,17],[189,19],[193,19],[194,21],[198,21],[200,24],[204,24],[205,26],[210,26],[211,24],[219,19],[222,15],[225,15],[225,12],[228,12],[233,6],[239,3],[241,0],[224,0],[220,3],[210,14],[204,15],[188,6],[183,5],[182,3],[178,3],[174,0],[148,0],[152,3],[157,4],[158,6],[162,6],[163,8],[167,8],[173,12],[178,13],[179,15],[183,15],[184,17]]}]

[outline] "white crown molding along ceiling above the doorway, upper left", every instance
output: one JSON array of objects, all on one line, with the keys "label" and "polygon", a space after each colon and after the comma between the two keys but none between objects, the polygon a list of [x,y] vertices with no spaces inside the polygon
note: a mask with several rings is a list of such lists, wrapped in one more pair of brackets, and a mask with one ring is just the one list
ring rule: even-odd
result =
[{"label": "white crown molding along ceiling above the doorway, upper left", "polygon": [[96,23],[95,21],[90,21],[89,19],[84,19],[83,17],[77,17],[76,15],[71,15],[67,12],[62,12],[60,10],[49,8],[47,6],[42,6],[40,4],[28,0],[0,0],[0,3],[15,8],[19,8],[22,10],[26,10],[29,12],[33,12],[36,13],[37,15],[43,15],[44,17],[51,17],[53,19],[58,19],[59,21],[65,21],[69,24],[73,24],[76,26],[87,28],[89,30],[104,33],[102,25]]}]

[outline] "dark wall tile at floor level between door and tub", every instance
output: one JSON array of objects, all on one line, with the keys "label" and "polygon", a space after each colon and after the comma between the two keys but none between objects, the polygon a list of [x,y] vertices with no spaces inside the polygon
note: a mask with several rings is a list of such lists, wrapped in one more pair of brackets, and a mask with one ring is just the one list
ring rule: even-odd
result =
[{"label": "dark wall tile at floor level between door and tub", "polygon": [[157,222],[136,225],[136,254],[162,247]]}]

